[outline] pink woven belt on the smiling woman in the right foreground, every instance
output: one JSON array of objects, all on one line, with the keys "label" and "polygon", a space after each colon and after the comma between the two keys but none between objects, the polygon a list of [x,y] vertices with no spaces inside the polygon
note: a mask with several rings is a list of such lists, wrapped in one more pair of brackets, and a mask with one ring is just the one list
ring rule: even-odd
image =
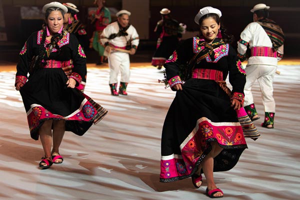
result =
[{"label": "pink woven belt on the smiling woman in the right foreground", "polygon": [[215,69],[196,68],[192,71],[192,78],[223,80],[223,72]]}]

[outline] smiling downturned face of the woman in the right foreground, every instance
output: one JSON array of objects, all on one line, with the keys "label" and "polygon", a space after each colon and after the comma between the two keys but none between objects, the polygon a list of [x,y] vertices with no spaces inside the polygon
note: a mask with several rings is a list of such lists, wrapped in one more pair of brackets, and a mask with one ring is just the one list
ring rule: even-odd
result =
[{"label": "smiling downturned face of the woman in the right foreground", "polygon": [[202,20],[200,24],[200,30],[205,40],[211,43],[213,39],[217,36],[220,24],[215,21],[213,17],[207,17]]}]

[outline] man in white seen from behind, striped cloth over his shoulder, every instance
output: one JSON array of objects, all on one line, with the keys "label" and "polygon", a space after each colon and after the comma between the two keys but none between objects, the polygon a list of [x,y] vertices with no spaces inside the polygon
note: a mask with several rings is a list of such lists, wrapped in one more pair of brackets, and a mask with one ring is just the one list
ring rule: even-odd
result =
[{"label": "man in white seen from behind, striped cloth over his shoulder", "polygon": [[273,98],[273,78],[277,68],[277,61],[283,56],[284,35],[282,29],[268,19],[269,6],[259,3],[250,11],[253,12],[253,21],[240,34],[237,42],[238,56],[245,58],[247,45],[251,49],[246,71],[244,86],[244,108],[252,120],[258,119],[253,101],[251,87],[257,79],[264,106],[264,121],[261,124],[266,128],[273,128],[275,114],[275,100]]}]

